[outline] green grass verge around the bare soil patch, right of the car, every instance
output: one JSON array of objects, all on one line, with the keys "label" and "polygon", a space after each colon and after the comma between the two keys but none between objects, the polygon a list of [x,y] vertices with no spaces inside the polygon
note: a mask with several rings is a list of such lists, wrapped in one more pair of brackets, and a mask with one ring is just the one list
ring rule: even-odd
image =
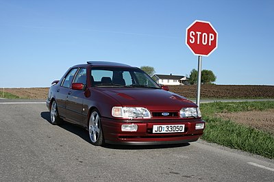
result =
[{"label": "green grass verge around the bare soil patch, right of the car", "polygon": [[220,112],[262,111],[273,108],[274,101],[203,103],[201,111],[203,119],[206,120],[206,129],[201,138],[274,159],[274,135],[214,116]]}]

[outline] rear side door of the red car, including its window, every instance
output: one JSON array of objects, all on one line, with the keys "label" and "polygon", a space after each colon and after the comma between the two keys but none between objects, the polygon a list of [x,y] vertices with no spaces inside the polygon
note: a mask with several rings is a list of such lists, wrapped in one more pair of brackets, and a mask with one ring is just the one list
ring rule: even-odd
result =
[{"label": "rear side door of the red car, including its window", "polygon": [[75,73],[77,72],[78,68],[73,68],[69,71],[69,73],[64,77],[62,83],[60,84],[59,88],[56,90],[56,103],[58,105],[58,112],[60,116],[66,118],[66,100],[68,94],[71,92],[71,84]]}]

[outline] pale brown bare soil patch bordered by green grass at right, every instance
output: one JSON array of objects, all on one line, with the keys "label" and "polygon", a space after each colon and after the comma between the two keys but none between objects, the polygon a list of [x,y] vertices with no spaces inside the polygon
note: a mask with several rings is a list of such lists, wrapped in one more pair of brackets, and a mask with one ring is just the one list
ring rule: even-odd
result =
[{"label": "pale brown bare soil patch bordered by green grass at right", "polygon": [[221,113],[216,116],[226,120],[233,120],[243,125],[247,125],[274,135],[274,109],[262,112],[234,112]]}]

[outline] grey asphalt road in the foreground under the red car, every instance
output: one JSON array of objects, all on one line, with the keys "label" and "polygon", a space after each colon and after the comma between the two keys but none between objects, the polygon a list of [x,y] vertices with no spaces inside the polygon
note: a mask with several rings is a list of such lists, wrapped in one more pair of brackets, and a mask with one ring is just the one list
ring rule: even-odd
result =
[{"label": "grey asphalt road in the foreground under the red car", "polygon": [[0,100],[0,135],[0,181],[274,181],[274,160],[201,140],[92,146],[84,129],[51,125],[45,101]]}]

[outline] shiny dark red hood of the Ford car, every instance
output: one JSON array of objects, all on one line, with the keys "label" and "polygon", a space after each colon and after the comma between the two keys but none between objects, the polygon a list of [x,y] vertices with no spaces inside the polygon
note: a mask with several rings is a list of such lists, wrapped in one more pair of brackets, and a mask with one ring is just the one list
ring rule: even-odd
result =
[{"label": "shiny dark red hood of the Ford car", "polygon": [[[122,106],[146,107],[150,110],[178,111],[182,107],[197,107],[192,101],[173,92],[153,88],[97,88]],[[118,106],[118,105],[117,105]]]}]

